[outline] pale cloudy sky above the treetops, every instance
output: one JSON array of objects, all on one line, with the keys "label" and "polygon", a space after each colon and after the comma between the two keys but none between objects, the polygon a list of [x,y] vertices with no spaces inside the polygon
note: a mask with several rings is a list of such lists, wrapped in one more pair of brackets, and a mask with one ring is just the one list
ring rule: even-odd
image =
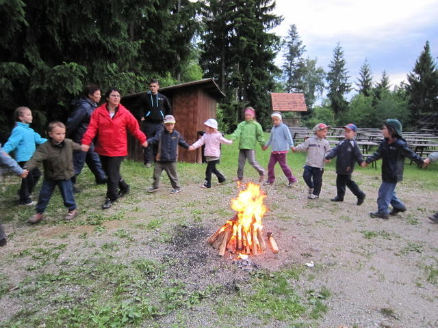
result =
[{"label": "pale cloudy sky above the treetops", "polygon": [[276,0],[275,13],[284,20],[272,31],[287,36],[295,24],[305,57],[317,57],[326,71],[339,42],[350,83],[356,83],[365,58],[374,81],[380,81],[383,70],[391,83],[406,81],[426,40],[437,63],[437,0]]}]

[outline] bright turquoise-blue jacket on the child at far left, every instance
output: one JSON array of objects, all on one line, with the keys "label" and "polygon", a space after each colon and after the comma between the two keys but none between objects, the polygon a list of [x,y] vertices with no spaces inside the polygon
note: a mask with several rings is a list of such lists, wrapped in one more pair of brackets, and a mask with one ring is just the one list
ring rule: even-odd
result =
[{"label": "bright turquoise-blue jacket on the child at far left", "polygon": [[29,124],[16,122],[16,126],[12,129],[11,136],[3,146],[3,150],[8,154],[15,152],[14,158],[17,162],[29,161],[36,150],[36,146],[46,142],[47,139],[41,137],[29,127]]}]

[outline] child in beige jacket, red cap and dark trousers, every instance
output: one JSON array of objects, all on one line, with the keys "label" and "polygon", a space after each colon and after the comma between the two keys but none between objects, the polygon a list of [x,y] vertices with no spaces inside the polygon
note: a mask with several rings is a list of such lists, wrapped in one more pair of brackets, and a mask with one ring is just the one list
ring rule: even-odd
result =
[{"label": "child in beige jacket, red cap and dark trousers", "polygon": [[302,178],[309,187],[309,200],[320,196],[322,174],[324,174],[324,156],[331,150],[330,143],[325,139],[330,126],[318,123],[313,126],[314,137],[307,138],[303,143],[292,147],[293,152],[307,152],[306,165]]}]

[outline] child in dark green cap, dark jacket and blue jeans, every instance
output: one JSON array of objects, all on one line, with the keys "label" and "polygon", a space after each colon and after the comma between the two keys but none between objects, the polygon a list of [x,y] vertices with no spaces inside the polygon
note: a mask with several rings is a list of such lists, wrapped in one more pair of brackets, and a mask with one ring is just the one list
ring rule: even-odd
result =
[{"label": "child in dark green cap, dark jacket and blue jeans", "polygon": [[[403,180],[405,157],[424,167],[429,161],[422,159],[408,148],[407,142],[403,139],[402,124],[398,120],[394,118],[386,120],[383,123],[382,133],[384,139],[380,146],[361,166],[365,167],[382,159],[382,184],[378,189],[377,211],[370,213],[370,217],[389,219],[389,215],[397,215],[406,210],[406,206],[396,194],[397,182]],[[389,212],[389,204],[392,206],[391,212]]]}]

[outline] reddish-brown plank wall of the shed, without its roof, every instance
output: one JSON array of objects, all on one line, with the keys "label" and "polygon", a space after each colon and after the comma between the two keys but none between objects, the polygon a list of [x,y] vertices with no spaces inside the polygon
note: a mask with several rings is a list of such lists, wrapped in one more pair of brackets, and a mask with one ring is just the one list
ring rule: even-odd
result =
[{"label": "reddish-brown plank wall of the shed, without its roof", "polygon": [[[200,87],[185,87],[165,94],[172,104],[172,113],[177,123],[175,130],[183,135],[185,141],[190,145],[194,143],[199,135],[198,131],[204,131],[204,122],[209,118],[216,118],[216,99],[207,94]],[[130,100],[130,102],[134,102]],[[124,103],[125,105],[125,103]],[[129,102],[125,106],[129,108]],[[137,139],[129,135],[128,141],[129,159],[143,161],[142,146]],[[202,162],[202,148],[193,152],[179,147],[179,161],[187,163]]]}]

